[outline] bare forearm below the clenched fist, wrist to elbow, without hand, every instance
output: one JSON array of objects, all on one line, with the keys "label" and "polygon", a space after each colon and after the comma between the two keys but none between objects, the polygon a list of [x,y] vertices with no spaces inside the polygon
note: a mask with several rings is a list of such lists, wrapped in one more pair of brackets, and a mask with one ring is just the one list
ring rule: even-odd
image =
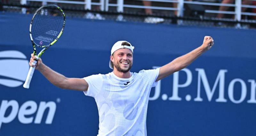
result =
[{"label": "bare forearm below the clenched fist, wrist to elbow, without hand", "polygon": [[188,65],[190,65],[193,61],[196,60],[201,54],[203,54],[206,51],[206,49],[202,46],[194,49],[193,51],[189,52],[188,54],[185,54],[183,56],[180,56],[176,59],[174,59],[171,64],[175,66],[175,71],[179,71],[183,68],[186,68]]}]

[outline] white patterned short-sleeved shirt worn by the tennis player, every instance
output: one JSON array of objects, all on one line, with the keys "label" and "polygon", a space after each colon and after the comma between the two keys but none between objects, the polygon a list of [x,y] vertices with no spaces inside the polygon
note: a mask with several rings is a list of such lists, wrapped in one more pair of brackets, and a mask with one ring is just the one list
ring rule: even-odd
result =
[{"label": "white patterned short-sleeved shirt worn by the tennis player", "polygon": [[84,77],[84,94],[95,98],[99,110],[98,136],[146,136],[148,98],[159,68],[119,78],[113,72]]}]

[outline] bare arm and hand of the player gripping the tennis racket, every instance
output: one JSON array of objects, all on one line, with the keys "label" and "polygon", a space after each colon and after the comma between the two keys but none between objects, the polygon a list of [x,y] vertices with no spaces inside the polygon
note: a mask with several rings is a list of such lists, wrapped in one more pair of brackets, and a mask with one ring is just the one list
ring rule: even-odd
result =
[{"label": "bare arm and hand of the player gripping the tennis racket", "polygon": [[86,91],[88,89],[88,83],[82,78],[67,78],[64,75],[61,75],[51,68],[47,67],[41,60],[38,59],[36,65],[33,64],[35,56],[31,54],[29,65],[32,67],[36,66],[36,69],[39,70],[53,85],[60,87],[62,89],[71,89]]}]

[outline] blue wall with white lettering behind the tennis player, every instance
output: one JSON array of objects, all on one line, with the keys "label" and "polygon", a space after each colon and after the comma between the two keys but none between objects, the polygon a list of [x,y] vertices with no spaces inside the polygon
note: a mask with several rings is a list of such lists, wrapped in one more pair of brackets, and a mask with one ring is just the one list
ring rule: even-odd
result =
[{"label": "blue wall with white lettering behind the tennis player", "polygon": [[[59,89],[38,71],[29,89],[19,85],[33,51],[28,32],[31,17],[0,13],[0,135],[96,135],[98,110],[92,97]],[[111,72],[112,45],[127,40],[135,46],[131,71],[138,72],[188,53],[202,44],[205,35],[214,38],[214,46],[152,89],[148,136],[256,135],[255,30],[67,18],[62,36],[42,59],[67,77],[105,74]],[[8,55],[10,50],[14,52]],[[17,85],[10,87],[13,84]],[[173,96],[176,90],[180,100]],[[40,111],[44,102],[51,108]],[[39,113],[43,113],[40,123]]]}]

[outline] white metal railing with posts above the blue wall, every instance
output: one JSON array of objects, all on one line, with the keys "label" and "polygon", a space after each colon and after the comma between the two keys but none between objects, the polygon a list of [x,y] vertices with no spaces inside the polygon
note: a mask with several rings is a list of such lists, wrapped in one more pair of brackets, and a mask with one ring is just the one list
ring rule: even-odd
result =
[{"label": "white metal railing with posts above the blue wall", "polygon": [[[99,2],[92,2],[92,0],[84,1],[67,1],[67,0],[17,0],[20,1],[20,4],[27,4],[27,1],[36,1],[42,2],[42,5],[51,3],[65,3],[65,4],[82,4],[84,5],[85,10],[91,10],[92,5],[100,6],[100,11],[108,11],[109,7],[116,7],[117,12],[124,12],[124,8],[139,8],[139,9],[153,9],[153,10],[164,10],[164,11],[177,11],[178,17],[183,17],[184,5],[185,4],[194,4],[194,5],[207,5],[207,6],[228,6],[234,7],[234,11],[219,11],[219,10],[208,10],[205,9],[204,13],[213,13],[213,14],[233,14],[234,20],[241,21],[242,15],[247,16],[256,16],[256,13],[252,12],[242,12],[242,8],[255,8],[256,5],[243,5],[241,0],[235,0],[235,4],[222,4],[216,2],[200,2],[200,1],[184,1],[184,0],[147,0],[151,2],[164,3],[170,6],[144,6],[144,5],[135,5],[135,4],[124,4],[124,0],[116,0],[116,3],[110,3],[109,0],[99,0]],[[143,1],[143,0],[137,0]],[[256,0],[251,0],[256,1]],[[176,3],[177,7],[172,7],[172,4]]]}]

